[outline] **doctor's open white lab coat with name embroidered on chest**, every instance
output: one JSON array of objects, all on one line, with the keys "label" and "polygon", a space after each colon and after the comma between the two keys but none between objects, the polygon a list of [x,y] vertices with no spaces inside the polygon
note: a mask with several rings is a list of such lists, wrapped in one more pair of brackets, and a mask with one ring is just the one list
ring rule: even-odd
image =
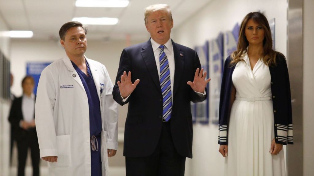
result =
[{"label": "doctor's open white lab coat with name embroidered on chest", "polygon": [[[107,148],[118,147],[117,103],[112,98],[113,85],[106,67],[86,60],[100,99],[102,175],[108,176]],[[48,162],[49,175],[91,175],[88,99],[67,56],[48,65],[41,73],[35,123],[40,157],[58,156],[57,163]]]}]

